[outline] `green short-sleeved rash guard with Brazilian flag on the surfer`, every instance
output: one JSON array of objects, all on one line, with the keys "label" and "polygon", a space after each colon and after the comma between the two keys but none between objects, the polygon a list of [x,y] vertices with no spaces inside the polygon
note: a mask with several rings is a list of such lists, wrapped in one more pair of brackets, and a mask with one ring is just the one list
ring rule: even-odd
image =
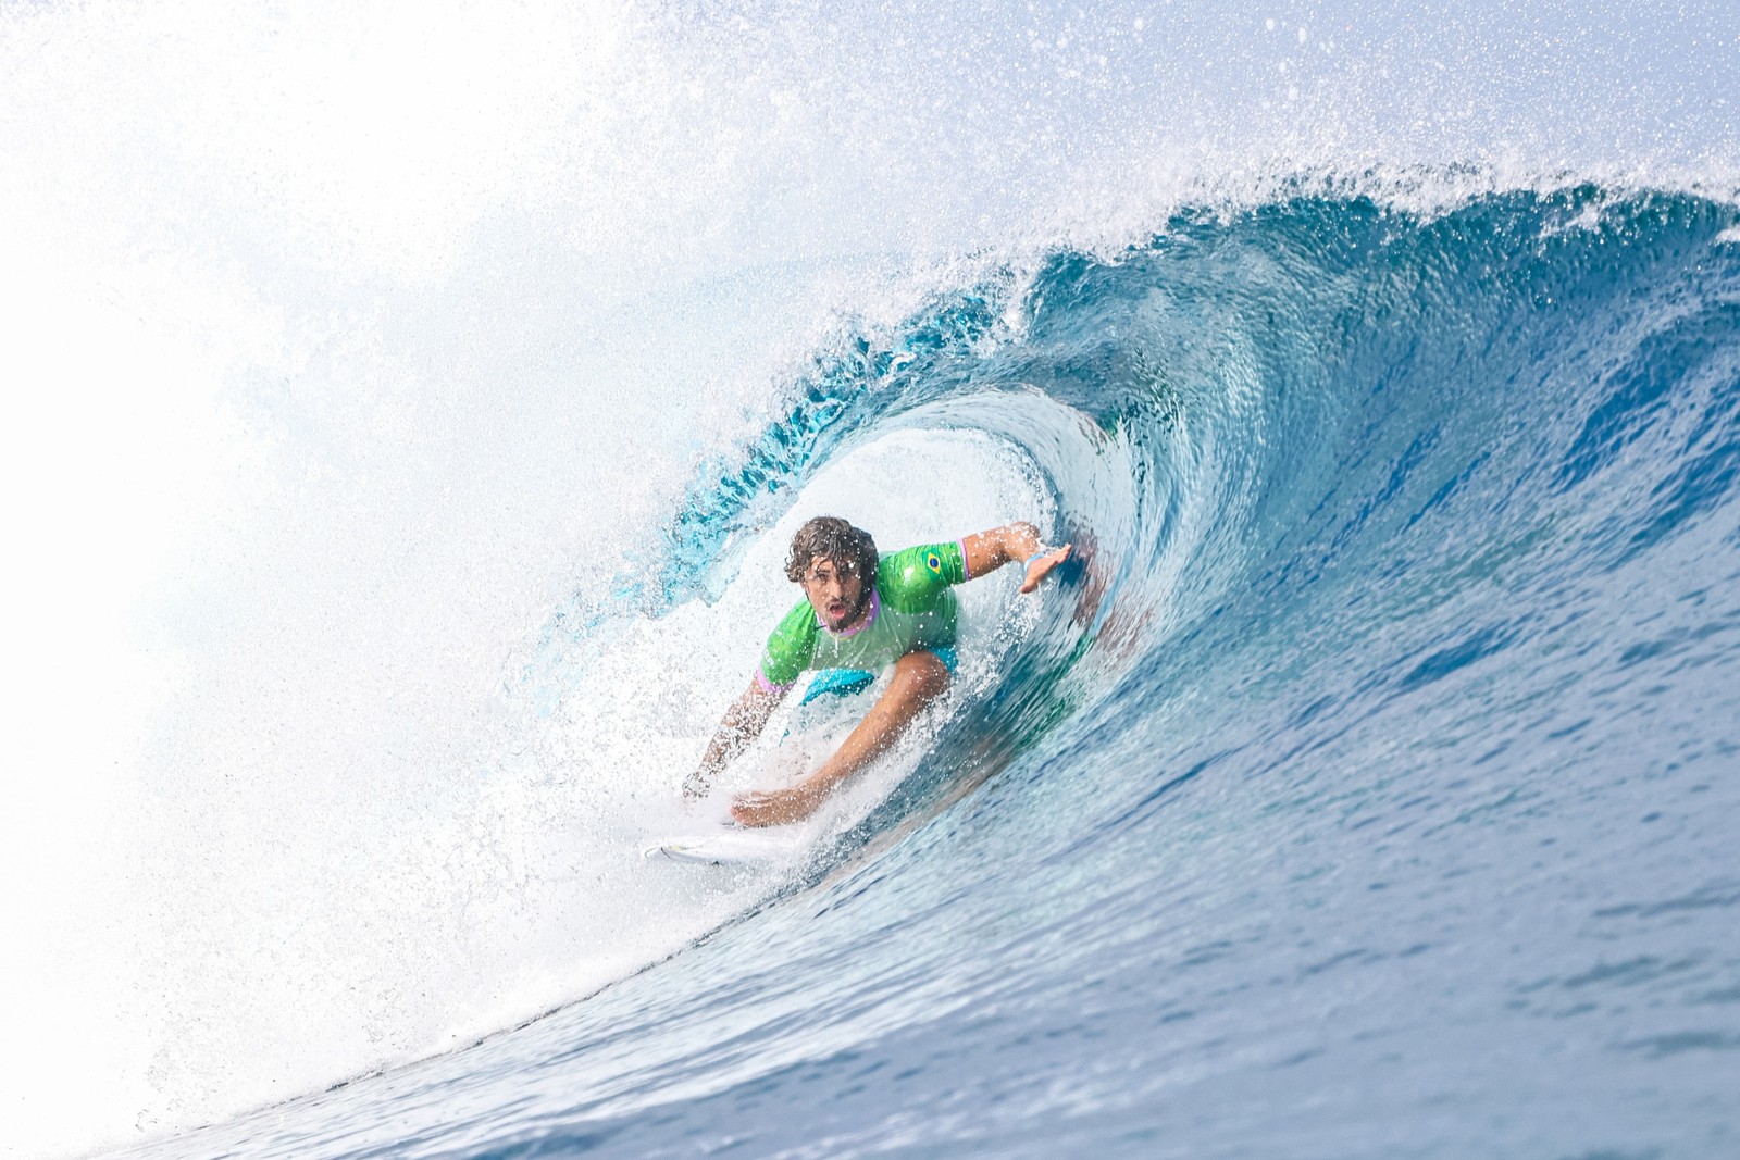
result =
[{"label": "green short-sleeved rash guard with Brazilian flag on the surfer", "polygon": [[967,555],[960,541],[919,544],[879,557],[865,623],[833,633],[816,619],[809,600],[799,600],[767,637],[755,680],[767,692],[785,692],[806,670],[880,673],[915,649],[950,649],[959,605],[948,590],[967,579]]}]

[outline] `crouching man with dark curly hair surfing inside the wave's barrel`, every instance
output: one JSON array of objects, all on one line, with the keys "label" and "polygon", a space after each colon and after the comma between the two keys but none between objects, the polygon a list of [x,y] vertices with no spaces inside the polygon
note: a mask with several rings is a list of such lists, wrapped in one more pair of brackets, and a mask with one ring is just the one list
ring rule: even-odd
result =
[{"label": "crouching man with dark curly hair surfing inside the wave's barrel", "polygon": [[807,522],[792,537],[785,562],[804,600],[767,637],[755,680],[719,722],[699,769],[684,781],[684,797],[708,791],[713,777],[760,736],[804,671],[820,670],[809,699],[818,692],[858,692],[893,666],[889,687],[820,769],[786,790],[746,793],[731,803],[731,816],[745,826],[807,817],[948,689],[957,619],[950,588],[1023,560],[1021,591],[1030,593],[1068,555],[1068,544],[1047,548],[1032,523],[877,557],[870,534],[846,520]]}]

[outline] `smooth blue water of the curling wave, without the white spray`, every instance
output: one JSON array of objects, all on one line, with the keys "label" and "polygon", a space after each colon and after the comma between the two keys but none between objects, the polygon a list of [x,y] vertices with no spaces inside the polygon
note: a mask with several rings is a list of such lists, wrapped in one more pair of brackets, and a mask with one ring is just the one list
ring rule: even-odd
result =
[{"label": "smooth blue water of the curling wave, without the white spray", "polygon": [[879,440],[1014,449],[1077,562],[919,770],[588,1002],[167,1151],[1724,1153],[1737,223],[1298,193],[825,348],[614,616]]}]

